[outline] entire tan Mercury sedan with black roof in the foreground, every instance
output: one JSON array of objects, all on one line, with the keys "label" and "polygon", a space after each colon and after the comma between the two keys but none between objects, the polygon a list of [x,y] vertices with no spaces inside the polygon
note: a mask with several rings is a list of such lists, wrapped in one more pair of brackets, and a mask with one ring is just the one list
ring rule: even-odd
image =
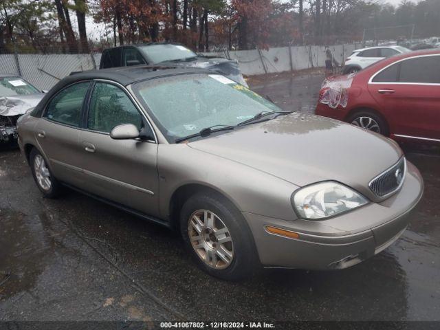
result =
[{"label": "entire tan Mercury sedan with black roof in the foreground", "polygon": [[176,228],[228,280],[360,263],[399,238],[423,190],[395,142],[197,69],[69,76],[19,120],[19,144],[45,197],[69,186]]}]

